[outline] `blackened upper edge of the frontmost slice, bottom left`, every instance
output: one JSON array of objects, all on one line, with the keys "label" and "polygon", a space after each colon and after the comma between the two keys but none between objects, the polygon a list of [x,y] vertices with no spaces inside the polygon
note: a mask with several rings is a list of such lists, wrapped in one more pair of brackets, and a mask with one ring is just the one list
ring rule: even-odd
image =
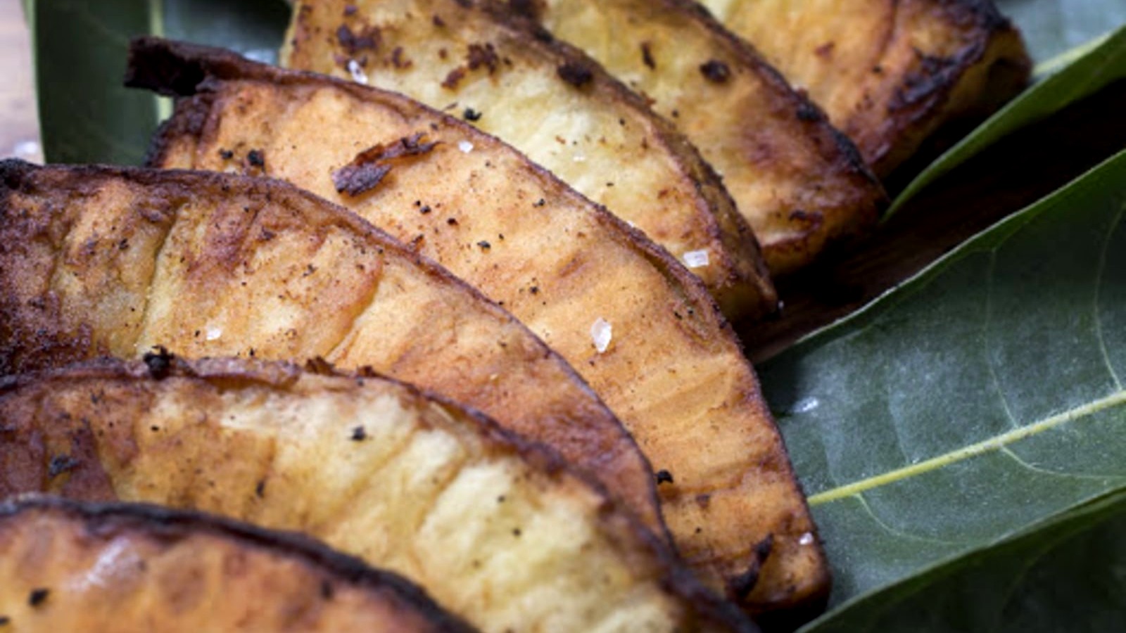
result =
[{"label": "blackened upper edge of the frontmost slice, bottom left", "polygon": [[394,599],[422,615],[437,631],[457,633],[475,631],[441,608],[422,588],[405,578],[370,567],[355,556],[332,550],[320,541],[295,532],[265,529],[218,515],[175,510],[151,503],[92,503],[41,496],[25,496],[0,503],[0,521],[18,519],[25,512],[36,510],[59,512],[75,518],[86,526],[98,528],[136,529],[160,538],[207,534],[295,556],[355,587],[390,590]]}]

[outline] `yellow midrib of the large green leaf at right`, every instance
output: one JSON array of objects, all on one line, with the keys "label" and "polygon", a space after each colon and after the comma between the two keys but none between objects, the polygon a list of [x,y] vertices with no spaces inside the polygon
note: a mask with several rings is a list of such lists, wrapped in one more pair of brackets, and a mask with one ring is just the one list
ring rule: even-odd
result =
[{"label": "yellow midrib of the large green leaf at right", "polygon": [[888,485],[897,481],[910,479],[912,476],[918,476],[930,471],[955,464],[957,462],[963,462],[978,455],[984,455],[992,451],[1000,451],[1011,444],[1027,439],[1029,437],[1039,435],[1046,430],[1052,430],[1056,427],[1093,416],[1106,409],[1117,407],[1120,404],[1126,404],[1126,390],[1118,390],[1109,395],[1088,402],[1082,407],[1076,407],[1074,409],[1069,409],[1055,416],[1044,418],[1037,422],[1026,425],[1024,427],[1012,429],[1008,433],[1001,435],[995,435],[989,439],[972,444],[969,446],[964,446],[957,451],[951,451],[949,453],[944,453],[936,457],[931,457],[924,462],[919,462],[918,464],[911,464],[910,466],[904,466],[902,469],[896,469],[894,471],[888,471],[886,473],[863,479],[860,481],[852,482],[848,485],[841,485],[826,490],[824,492],[819,492],[810,497],[810,506],[820,506],[823,503],[830,503],[832,501],[838,501],[840,499],[847,499],[849,497],[855,497],[868,490],[879,488],[883,485]]}]

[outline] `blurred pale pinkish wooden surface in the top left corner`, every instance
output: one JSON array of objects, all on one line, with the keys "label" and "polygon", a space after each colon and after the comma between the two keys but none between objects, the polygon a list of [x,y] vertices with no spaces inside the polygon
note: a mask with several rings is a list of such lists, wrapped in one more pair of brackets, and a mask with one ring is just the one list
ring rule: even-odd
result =
[{"label": "blurred pale pinkish wooden surface in the top left corner", "polygon": [[42,162],[32,43],[19,0],[0,0],[0,157]]}]

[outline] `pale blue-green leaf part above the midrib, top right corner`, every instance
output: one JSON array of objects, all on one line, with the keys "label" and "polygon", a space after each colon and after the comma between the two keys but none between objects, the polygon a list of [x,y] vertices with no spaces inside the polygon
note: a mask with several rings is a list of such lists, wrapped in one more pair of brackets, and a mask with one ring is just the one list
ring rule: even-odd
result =
[{"label": "pale blue-green leaf part above the midrib, top right corner", "polygon": [[1126,24],[1121,0],[997,0],[997,7],[1020,27],[1037,64]]}]

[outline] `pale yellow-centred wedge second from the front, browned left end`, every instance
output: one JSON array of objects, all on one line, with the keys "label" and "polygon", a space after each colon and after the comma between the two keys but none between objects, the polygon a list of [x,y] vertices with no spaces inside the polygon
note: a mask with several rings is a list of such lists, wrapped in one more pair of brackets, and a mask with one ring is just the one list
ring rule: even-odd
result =
[{"label": "pale yellow-centred wedge second from the front, browned left end", "polygon": [[556,454],[401,383],[153,355],[12,380],[0,419],[0,490],[302,532],[483,631],[753,630]]}]

